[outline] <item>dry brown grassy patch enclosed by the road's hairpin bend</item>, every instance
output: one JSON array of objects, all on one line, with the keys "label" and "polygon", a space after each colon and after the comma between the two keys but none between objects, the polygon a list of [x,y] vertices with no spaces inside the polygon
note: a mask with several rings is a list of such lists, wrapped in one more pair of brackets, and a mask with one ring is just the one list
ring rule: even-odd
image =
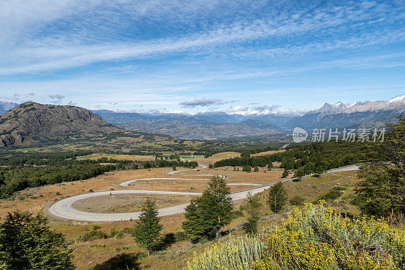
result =
[{"label": "dry brown grassy patch enclosed by the road's hairpin bend", "polygon": [[151,195],[151,194],[113,194],[91,197],[76,201],[72,208],[91,213],[130,213],[142,210],[147,199],[156,200],[158,208],[187,203],[192,196],[185,195]]}]

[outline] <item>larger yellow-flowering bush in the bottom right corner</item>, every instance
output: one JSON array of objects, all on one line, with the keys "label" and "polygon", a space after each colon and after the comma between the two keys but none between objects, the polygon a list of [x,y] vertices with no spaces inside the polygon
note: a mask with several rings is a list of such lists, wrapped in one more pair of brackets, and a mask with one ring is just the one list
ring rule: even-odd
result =
[{"label": "larger yellow-flowering bush in the bottom right corner", "polygon": [[402,269],[405,232],[383,219],[342,217],[336,208],[307,204],[270,230],[253,269]]}]

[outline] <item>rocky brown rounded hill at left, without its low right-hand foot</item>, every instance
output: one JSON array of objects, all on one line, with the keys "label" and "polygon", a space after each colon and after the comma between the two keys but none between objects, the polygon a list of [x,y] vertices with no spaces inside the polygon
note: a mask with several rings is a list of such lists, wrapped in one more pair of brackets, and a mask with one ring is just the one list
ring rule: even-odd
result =
[{"label": "rocky brown rounded hill at left, without its low right-hand foot", "polygon": [[97,137],[120,129],[75,106],[22,103],[0,118],[0,146]]}]

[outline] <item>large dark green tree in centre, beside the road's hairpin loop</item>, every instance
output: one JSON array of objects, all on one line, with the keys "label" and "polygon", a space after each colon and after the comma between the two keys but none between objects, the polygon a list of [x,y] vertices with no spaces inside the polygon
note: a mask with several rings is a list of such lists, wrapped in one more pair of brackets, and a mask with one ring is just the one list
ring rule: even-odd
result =
[{"label": "large dark green tree in centre, beside the road's hairpin loop", "polygon": [[230,188],[223,177],[214,176],[203,195],[191,200],[186,207],[182,227],[188,237],[199,240],[203,237],[218,237],[219,229],[232,219],[232,198]]}]

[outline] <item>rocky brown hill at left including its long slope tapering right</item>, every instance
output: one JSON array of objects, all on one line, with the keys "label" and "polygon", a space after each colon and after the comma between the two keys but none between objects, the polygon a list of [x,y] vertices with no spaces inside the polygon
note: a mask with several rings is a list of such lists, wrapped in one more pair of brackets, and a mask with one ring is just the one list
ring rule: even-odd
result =
[{"label": "rocky brown hill at left including its long slope tapering right", "polygon": [[0,117],[0,147],[84,142],[121,148],[159,141],[168,144],[175,139],[118,128],[90,110],[70,105],[28,101]]}]

